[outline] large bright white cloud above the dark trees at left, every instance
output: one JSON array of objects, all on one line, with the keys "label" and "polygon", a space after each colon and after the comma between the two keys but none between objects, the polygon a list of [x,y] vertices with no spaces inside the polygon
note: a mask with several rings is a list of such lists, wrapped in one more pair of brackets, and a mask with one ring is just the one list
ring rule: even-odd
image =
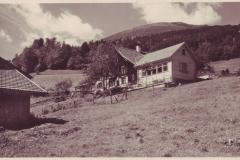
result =
[{"label": "large bright white cloud above the dark trees at left", "polygon": [[33,39],[40,37],[56,37],[71,45],[79,45],[83,41],[102,37],[102,30],[93,28],[67,10],[59,16],[54,16],[51,12],[44,11],[37,3],[13,5],[13,8],[24,18],[31,30],[24,33],[26,41],[21,44],[22,47],[30,45]]}]

